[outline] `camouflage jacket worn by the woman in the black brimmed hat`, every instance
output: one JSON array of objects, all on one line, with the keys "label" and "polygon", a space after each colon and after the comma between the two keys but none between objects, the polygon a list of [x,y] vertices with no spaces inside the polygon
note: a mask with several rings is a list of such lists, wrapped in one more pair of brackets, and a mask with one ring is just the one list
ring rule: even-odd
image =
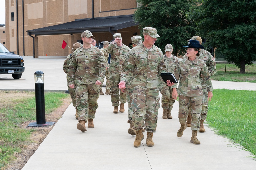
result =
[{"label": "camouflage jacket worn by the woman in the black brimmed hat", "polygon": [[188,57],[180,60],[175,71],[175,78],[180,79],[177,88],[178,94],[188,97],[202,96],[200,75],[206,83],[207,91],[211,92],[213,90],[212,82],[205,63],[197,57],[192,63],[188,60]]}]

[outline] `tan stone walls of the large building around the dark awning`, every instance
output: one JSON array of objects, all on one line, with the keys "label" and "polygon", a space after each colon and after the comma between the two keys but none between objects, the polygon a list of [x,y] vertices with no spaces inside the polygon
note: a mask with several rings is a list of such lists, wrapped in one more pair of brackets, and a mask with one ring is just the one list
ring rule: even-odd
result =
[{"label": "tan stone walls of the large building around the dark awning", "polygon": [[[130,15],[135,11],[137,3],[135,0],[94,0],[94,17]],[[132,9],[130,9],[132,8]],[[125,10],[122,10],[125,9]],[[128,9],[128,10],[127,10]],[[16,1],[11,6],[11,0],[5,0],[6,11],[6,42],[10,51],[17,54],[17,17]],[[14,21],[11,21],[11,12],[14,12]],[[91,0],[27,0],[24,1],[24,49],[25,56],[33,55],[33,38],[27,34],[27,30],[42,28],[75,19],[92,17]],[[23,55],[23,27],[22,27],[22,0],[18,0],[18,25],[19,25],[19,55]],[[129,45],[133,33],[139,31],[136,27],[118,30],[123,37],[123,43]],[[33,37],[35,35],[32,35]],[[98,41],[111,40],[109,32],[94,33]],[[62,41],[68,44],[65,49],[61,48]],[[81,35],[48,35],[38,36],[39,56],[67,56],[72,51],[72,45],[81,40]]]}]

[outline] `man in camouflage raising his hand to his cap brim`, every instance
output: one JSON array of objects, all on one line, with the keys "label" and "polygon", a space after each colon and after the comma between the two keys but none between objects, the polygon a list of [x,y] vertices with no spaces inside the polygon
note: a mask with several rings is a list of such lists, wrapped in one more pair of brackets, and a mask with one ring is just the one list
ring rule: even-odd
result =
[{"label": "man in camouflage raising his hand to his cap brim", "polygon": [[[120,33],[113,35],[114,41],[110,43],[106,51],[111,54],[111,62],[109,66],[109,80],[110,80],[110,93],[111,101],[114,106],[113,113],[118,113],[118,106],[120,101],[120,112],[125,112],[124,104],[126,103],[126,93],[122,92],[118,88],[120,82],[120,76],[122,72],[122,64],[125,61],[126,55],[130,51],[130,48],[122,44],[122,37]],[[120,95],[119,95],[120,91]]]}]

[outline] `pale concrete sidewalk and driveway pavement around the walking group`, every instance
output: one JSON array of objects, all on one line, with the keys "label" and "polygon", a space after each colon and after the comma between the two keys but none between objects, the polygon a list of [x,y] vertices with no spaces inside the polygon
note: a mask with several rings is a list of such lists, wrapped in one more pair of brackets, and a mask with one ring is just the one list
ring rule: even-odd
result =
[{"label": "pale concrete sidewalk and driveway pavement around the walking group", "polygon": [[[62,65],[66,57],[25,56],[25,72],[20,80],[11,75],[0,75],[0,90],[34,90],[34,73],[42,70],[45,90],[66,91],[66,74]],[[103,83],[105,84],[105,82]],[[256,90],[256,83],[213,81],[213,87]],[[103,88],[105,92],[105,88]],[[214,97],[212,98],[214,100]],[[177,137],[180,127],[178,102],[173,119],[162,119],[159,109],[154,147],[146,146],[146,132],[139,148],[133,147],[135,136],[127,133],[127,104],[125,113],[113,114],[110,95],[100,95],[99,108],[94,119],[95,128],[86,132],[77,130],[75,108],[70,104],[52,131],[28,160],[22,170],[45,169],[255,169],[256,162],[250,152],[234,146],[229,140],[215,135],[207,124],[205,133],[198,133],[200,145],[190,143],[192,130],[185,129]],[[46,120],[47,121],[47,120]],[[87,124],[86,124],[87,127]]]}]

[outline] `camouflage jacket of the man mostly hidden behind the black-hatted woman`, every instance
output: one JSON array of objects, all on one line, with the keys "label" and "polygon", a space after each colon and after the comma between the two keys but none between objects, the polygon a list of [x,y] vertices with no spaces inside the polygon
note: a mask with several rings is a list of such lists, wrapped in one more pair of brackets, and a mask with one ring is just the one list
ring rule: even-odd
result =
[{"label": "camouflage jacket of the man mostly hidden behind the black-hatted woman", "polygon": [[[201,48],[199,54],[200,55],[197,58],[204,61],[204,63],[208,67],[208,72],[209,72],[210,76],[214,75],[217,71],[214,57],[211,55],[210,52],[208,52],[208,51],[206,51],[205,49],[202,49],[202,48]],[[182,57],[182,59],[184,59],[184,58],[187,58],[187,54],[185,54]],[[202,86],[206,86],[202,77],[200,77],[200,81],[202,83]]]}]

